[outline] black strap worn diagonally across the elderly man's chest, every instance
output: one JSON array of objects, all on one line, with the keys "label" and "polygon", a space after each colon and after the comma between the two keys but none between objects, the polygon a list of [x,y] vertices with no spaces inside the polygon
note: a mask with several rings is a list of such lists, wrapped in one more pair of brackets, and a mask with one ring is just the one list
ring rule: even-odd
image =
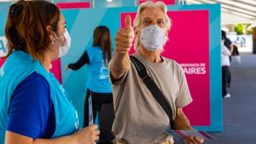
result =
[{"label": "black strap worn diagonally across the elderly man's chest", "polygon": [[131,62],[135,65],[137,72],[144,82],[146,84],[146,87],[148,90],[150,90],[151,94],[154,96],[156,101],[161,105],[161,108],[167,116],[169,117],[170,124],[171,124],[171,129],[174,130],[173,126],[173,111],[171,111],[171,107],[169,107],[169,104],[167,103],[166,99],[164,98],[163,94],[161,93],[161,90],[158,88],[156,83],[151,79],[151,77],[148,75],[146,72],[146,67],[141,63],[137,58],[134,56],[130,56]]}]

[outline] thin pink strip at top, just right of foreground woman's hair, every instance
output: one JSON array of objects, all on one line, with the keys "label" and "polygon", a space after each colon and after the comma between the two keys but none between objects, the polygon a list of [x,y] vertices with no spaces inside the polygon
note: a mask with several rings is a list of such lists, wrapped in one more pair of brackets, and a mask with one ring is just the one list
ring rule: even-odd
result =
[{"label": "thin pink strip at top, just right of foreground woman's hair", "polygon": [[59,9],[84,9],[90,8],[90,2],[56,3]]}]

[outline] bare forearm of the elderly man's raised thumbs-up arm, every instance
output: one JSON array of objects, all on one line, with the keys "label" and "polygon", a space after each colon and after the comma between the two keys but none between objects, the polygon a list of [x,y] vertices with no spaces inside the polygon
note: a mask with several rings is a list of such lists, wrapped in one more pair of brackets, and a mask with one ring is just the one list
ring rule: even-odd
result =
[{"label": "bare forearm of the elderly man's raised thumbs-up arm", "polygon": [[110,73],[114,79],[119,79],[126,73],[130,66],[130,58],[128,52],[118,52],[114,50],[114,56],[110,65]]}]

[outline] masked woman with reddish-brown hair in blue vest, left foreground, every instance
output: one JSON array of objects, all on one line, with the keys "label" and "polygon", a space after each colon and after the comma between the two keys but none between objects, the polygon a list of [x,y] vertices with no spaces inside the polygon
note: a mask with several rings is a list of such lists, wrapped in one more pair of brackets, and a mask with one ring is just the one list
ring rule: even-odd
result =
[{"label": "masked woman with reddish-brown hair in blue vest, left foreground", "polygon": [[50,72],[70,48],[60,10],[47,1],[11,5],[7,58],[0,71],[0,144],[95,143],[97,126],[79,130],[77,111]]}]

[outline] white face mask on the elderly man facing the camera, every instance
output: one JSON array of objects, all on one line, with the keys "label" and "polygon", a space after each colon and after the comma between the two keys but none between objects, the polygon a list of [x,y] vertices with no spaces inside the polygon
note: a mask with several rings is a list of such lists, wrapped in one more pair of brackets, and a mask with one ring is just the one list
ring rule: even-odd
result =
[{"label": "white face mask on the elderly man facing the camera", "polygon": [[144,27],[140,31],[140,41],[147,50],[158,50],[167,41],[167,36],[159,26],[152,25]]}]

